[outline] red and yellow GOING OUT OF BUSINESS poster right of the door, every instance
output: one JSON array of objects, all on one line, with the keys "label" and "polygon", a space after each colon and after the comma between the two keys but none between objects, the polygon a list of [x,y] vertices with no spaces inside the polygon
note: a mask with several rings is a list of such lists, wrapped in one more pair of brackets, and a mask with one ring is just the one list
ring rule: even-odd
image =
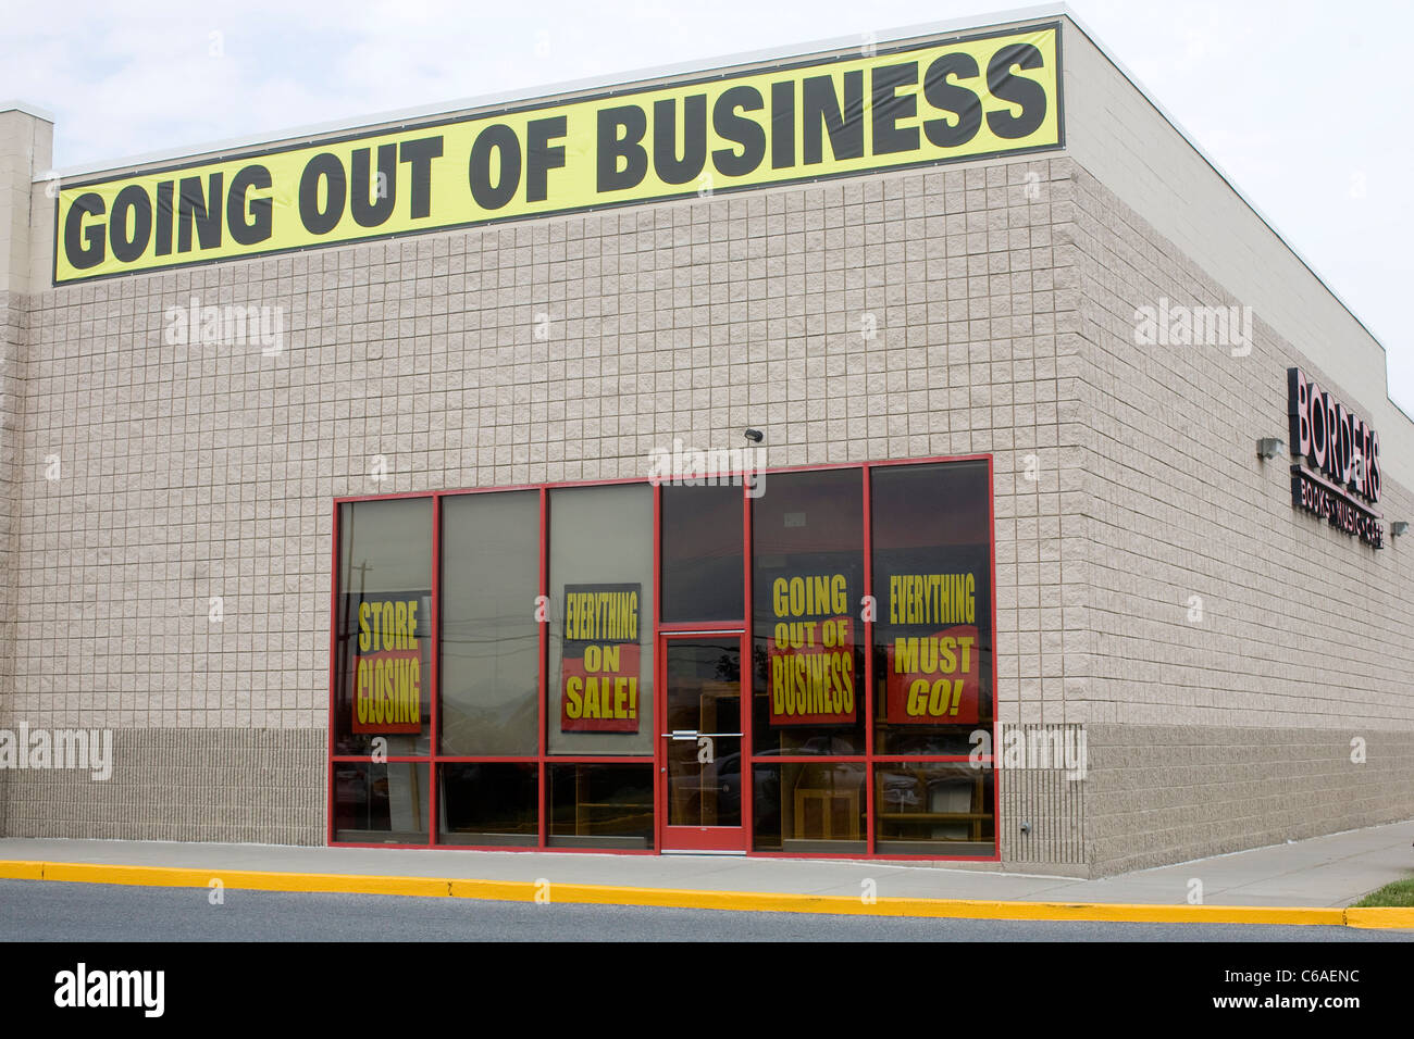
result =
[{"label": "red and yellow GOING OUT OF BUSINESS poster right of the door", "polygon": [[844,574],[775,580],[766,647],[772,725],[854,721],[854,618]]}]

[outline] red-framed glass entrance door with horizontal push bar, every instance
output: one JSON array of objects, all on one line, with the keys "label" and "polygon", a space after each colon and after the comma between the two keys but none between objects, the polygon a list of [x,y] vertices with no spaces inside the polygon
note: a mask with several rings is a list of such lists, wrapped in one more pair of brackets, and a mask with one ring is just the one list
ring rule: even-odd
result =
[{"label": "red-framed glass entrance door with horizontal push bar", "polygon": [[663,851],[745,854],[744,632],[663,635]]}]

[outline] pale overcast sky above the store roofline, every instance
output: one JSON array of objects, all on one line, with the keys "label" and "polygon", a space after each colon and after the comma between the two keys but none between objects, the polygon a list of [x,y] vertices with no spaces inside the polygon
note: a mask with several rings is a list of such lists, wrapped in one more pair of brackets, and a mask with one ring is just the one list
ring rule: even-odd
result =
[{"label": "pale overcast sky above the store roofline", "polygon": [[[1389,351],[1414,414],[1406,0],[1073,0],[1070,8]],[[0,99],[55,167],[930,21],[986,0],[6,3]]]}]

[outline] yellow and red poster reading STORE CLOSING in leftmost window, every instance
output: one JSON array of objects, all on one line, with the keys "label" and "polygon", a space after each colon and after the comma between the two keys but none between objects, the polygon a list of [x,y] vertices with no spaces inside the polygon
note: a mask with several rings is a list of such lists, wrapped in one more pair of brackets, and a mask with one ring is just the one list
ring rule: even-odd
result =
[{"label": "yellow and red poster reading STORE CLOSING in leftmost window", "polygon": [[358,604],[354,656],[354,731],[423,731],[423,653],[417,642],[419,598]]}]

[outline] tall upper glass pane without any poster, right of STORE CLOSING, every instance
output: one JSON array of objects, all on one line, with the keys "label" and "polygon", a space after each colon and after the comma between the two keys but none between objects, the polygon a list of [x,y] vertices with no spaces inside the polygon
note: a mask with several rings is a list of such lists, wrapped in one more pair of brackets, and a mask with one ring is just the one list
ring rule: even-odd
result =
[{"label": "tall upper glass pane without any poster, right of STORE CLOSING", "polygon": [[441,753],[539,752],[540,495],[443,499]]}]

